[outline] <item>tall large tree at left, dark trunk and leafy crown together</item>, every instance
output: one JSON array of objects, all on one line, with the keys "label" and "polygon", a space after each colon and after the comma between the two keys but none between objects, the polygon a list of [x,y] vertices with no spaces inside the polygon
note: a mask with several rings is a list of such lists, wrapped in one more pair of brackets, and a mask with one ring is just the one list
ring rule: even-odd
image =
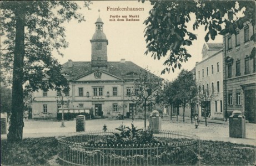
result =
[{"label": "tall large tree at left, dark trunk and leafy crown together", "polygon": [[1,35],[8,45],[7,53],[1,54],[1,70],[12,72],[12,115],[7,138],[19,142],[24,126],[23,97],[38,89],[68,90],[52,51],[62,55],[60,50],[68,46],[62,23],[72,18],[81,22],[84,18],[74,1],[2,1],[0,9]]}]

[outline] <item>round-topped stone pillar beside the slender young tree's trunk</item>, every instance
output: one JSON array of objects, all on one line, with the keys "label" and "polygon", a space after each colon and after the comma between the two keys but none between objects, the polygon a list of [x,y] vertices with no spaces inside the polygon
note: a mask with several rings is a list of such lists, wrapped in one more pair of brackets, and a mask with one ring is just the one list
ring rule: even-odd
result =
[{"label": "round-topped stone pillar beside the slender young tree's trunk", "polygon": [[159,112],[154,110],[149,116],[149,126],[152,129],[153,133],[158,133],[162,128],[162,120],[159,116]]}]

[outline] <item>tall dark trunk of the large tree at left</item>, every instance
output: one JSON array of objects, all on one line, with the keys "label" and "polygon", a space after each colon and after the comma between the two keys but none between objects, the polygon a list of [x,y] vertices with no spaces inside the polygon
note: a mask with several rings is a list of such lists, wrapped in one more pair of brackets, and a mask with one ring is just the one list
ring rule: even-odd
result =
[{"label": "tall dark trunk of the large tree at left", "polygon": [[13,62],[12,106],[8,142],[21,142],[23,134],[23,64],[24,64],[24,19],[16,14],[16,37]]}]

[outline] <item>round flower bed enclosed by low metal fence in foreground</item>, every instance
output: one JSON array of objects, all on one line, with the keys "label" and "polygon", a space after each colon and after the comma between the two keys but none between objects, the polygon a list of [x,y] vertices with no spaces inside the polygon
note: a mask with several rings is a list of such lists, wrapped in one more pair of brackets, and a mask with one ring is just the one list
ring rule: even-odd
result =
[{"label": "round flower bed enclosed by low metal fence in foreground", "polygon": [[197,162],[198,140],[188,133],[120,126],[59,138],[58,158],[68,165],[190,165]]}]

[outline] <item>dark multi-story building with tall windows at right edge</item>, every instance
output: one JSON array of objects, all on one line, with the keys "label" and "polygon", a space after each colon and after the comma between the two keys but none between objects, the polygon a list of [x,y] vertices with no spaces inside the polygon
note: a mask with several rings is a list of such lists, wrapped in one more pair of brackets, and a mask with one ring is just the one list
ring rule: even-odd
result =
[{"label": "dark multi-story building with tall windows at right edge", "polygon": [[225,117],[239,110],[251,123],[256,123],[255,42],[250,40],[255,30],[255,25],[245,22],[235,34],[223,35]]}]

